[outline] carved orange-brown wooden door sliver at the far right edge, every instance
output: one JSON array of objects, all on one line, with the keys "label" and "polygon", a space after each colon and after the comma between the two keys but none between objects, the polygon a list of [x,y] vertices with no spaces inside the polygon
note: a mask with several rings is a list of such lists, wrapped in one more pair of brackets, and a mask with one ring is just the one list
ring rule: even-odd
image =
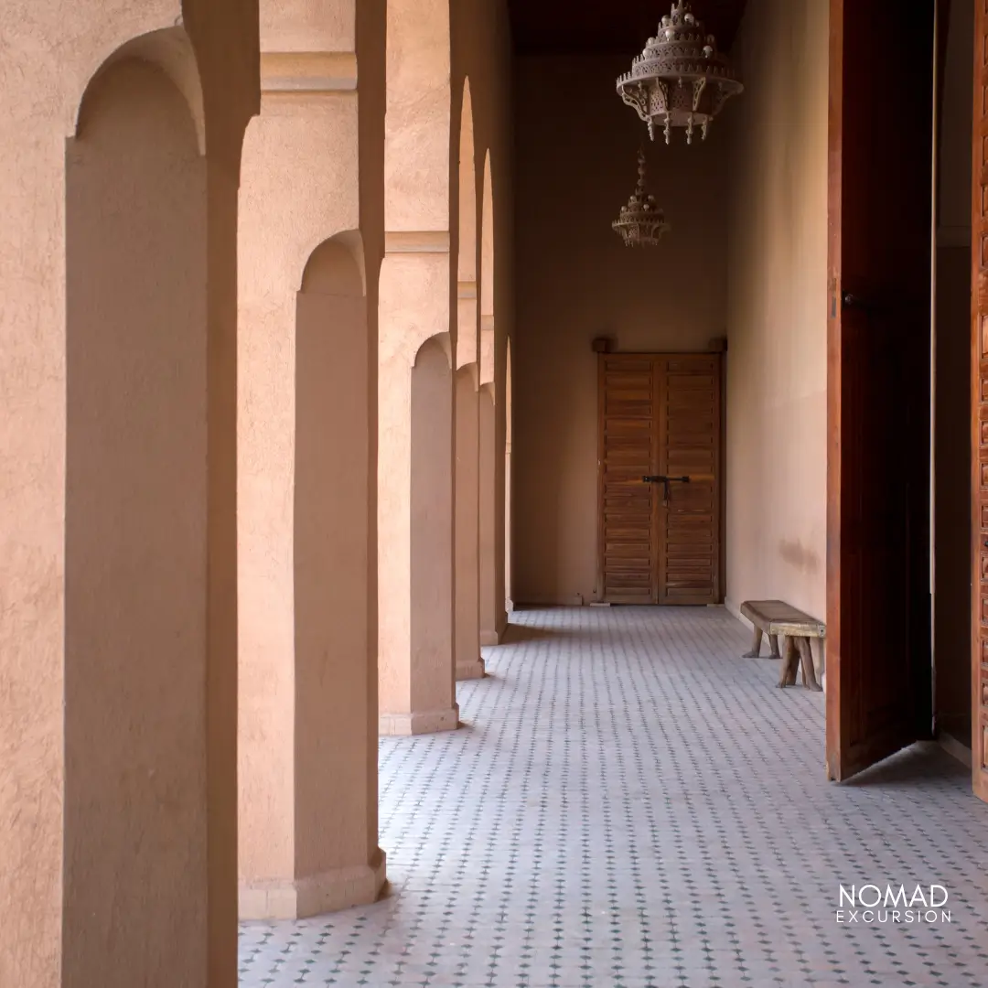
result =
[{"label": "carved orange-brown wooden door sliver at the far right edge", "polygon": [[[964,2],[964,0],[954,0]],[[971,2],[971,0],[967,0]],[[971,770],[988,801],[988,0],[974,0],[974,140],[971,204]]]}]

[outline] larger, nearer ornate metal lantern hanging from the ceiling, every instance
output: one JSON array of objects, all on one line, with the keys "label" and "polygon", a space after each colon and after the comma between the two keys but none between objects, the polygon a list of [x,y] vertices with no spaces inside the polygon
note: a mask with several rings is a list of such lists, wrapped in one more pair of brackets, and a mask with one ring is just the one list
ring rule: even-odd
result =
[{"label": "larger, nearer ornate metal lantern hanging from the ceiling", "polygon": [[685,128],[688,144],[697,127],[705,139],[713,118],[743,88],[687,0],[673,4],[631,71],[617,80],[620,98],[648,124],[649,137],[661,128],[667,144],[673,127]]}]

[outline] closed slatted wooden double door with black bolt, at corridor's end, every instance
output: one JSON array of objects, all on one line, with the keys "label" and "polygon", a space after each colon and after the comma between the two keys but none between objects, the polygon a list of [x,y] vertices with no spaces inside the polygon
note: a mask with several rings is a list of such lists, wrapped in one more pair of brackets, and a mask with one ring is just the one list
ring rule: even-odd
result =
[{"label": "closed slatted wooden double door with black bolt, at corridor's end", "polygon": [[720,354],[598,372],[598,600],[720,603]]}]

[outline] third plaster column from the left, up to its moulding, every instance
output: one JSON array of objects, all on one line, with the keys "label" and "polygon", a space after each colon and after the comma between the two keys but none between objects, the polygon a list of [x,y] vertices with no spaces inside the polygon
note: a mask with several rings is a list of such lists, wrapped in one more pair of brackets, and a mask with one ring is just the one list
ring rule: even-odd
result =
[{"label": "third plaster column from the left, up to its moulding", "polygon": [[378,377],[379,730],[459,723],[449,234],[388,234]]}]

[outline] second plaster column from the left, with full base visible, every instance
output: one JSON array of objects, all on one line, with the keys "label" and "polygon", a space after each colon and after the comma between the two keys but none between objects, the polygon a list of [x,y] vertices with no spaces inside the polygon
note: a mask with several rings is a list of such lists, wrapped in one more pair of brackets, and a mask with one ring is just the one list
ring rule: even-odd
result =
[{"label": "second plaster column from the left, with full base visible", "polygon": [[262,30],[240,227],[239,905],[294,919],[373,902],[385,880],[373,176],[353,18],[316,31],[265,0]]}]

